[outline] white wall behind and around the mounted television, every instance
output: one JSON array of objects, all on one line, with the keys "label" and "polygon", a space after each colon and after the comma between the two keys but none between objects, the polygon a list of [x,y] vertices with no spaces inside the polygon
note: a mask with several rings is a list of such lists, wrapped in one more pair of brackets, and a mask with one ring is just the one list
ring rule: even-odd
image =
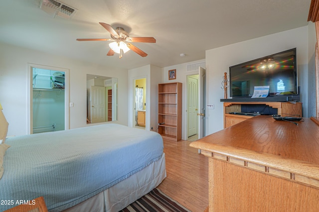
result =
[{"label": "white wall behind and around the mounted television", "polygon": [[[224,91],[221,81],[229,67],[253,59],[297,48],[298,83],[301,87],[303,114],[308,116],[308,27],[300,27],[244,42],[239,42],[206,51],[206,104],[215,109],[206,109],[206,135],[223,129]],[[228,91],[229,97],[229,91]]]}]

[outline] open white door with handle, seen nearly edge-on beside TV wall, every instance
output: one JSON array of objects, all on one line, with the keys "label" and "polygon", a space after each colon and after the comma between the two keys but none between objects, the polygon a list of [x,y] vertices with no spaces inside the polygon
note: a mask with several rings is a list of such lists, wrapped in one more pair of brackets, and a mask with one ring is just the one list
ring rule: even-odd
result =
[{"label": "open white door with handle, seen nearly edge-on beside TV wall", "polygon": [[198,77],[198,139],[205,136],[206,69],[199,67]]}]

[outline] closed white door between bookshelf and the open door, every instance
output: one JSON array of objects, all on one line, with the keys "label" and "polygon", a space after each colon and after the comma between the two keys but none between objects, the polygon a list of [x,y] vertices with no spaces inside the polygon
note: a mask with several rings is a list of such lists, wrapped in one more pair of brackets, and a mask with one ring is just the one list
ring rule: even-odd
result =
[{"label": "closed white door between bookshelf and the open door", "polygon": [[187,77],[187,137],[198,133],[198,77]]}]

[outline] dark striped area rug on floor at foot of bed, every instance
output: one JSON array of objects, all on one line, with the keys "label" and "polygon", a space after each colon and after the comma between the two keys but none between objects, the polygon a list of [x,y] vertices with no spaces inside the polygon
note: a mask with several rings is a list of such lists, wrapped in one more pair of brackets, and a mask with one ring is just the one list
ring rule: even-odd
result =
[{"label": "dark striped area rug on floor at foot of bed", "polygon": [[165,195],[160,189],[153,189],[150,193],[135,201],[121,212],[190,212],[188,209]]}]

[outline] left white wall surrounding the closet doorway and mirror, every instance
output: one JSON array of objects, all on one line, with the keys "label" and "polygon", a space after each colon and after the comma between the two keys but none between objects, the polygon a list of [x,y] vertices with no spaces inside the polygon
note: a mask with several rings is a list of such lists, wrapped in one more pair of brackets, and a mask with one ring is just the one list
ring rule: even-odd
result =
[{"label": "left white wall surrounding the closet doorway and mirror", "polygon": [[28,63],[69,70],[69,128],[86,126],[86,74],[116,77],[118,121],[127,125],[128,72],[0,43],[0,103],[9,122],[8,135],[27,134]]}]

